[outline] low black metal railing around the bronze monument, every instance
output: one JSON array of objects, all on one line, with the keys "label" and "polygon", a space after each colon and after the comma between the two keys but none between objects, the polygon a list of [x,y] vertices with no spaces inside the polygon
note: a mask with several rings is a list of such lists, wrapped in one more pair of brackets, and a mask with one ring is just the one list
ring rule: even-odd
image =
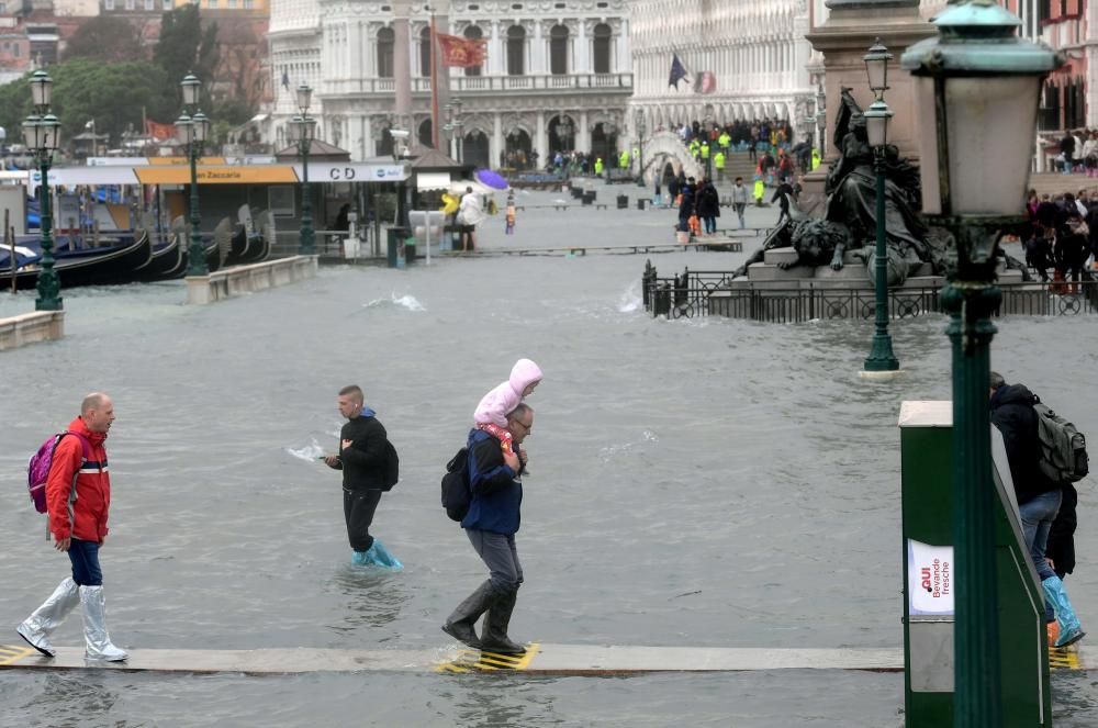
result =
[{"label": "low black metal railing around the bronze monument", "polygon": [[[803,323],[814,320],[873,318],[876,300],[872,288],[834,288],[811,281],[731,285],[731,271],[684,269],[660,277],[648,261],[641,277],[645,309],[653,316],[693,318],[727,316],[766,323]],[[996,316],[1077,316],[1098,313],[1098,281],[1034,282],[1001,287]],[[718,293],[719,295],[714,295]],[[892,318],[941,314],[940,288],[896,288],[888,291]]]}]

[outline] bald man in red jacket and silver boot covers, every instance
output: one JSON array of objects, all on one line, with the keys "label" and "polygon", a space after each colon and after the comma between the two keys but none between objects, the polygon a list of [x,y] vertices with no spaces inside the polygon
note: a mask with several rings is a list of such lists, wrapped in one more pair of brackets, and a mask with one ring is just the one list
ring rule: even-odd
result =
[{"label": "bald man in red jacket and silver boot covers", "polygon": [[31,647],[47,657],[55,654],[49,635],[77,603],[83,611],[86,657],[111,662],[130,657],[111,643],[107,631],[103,572],[99,568],[99,549],[107,539],[107,516],[111,505],[111,474],[103,441],[113,422],[111,397],[93,392],[83,399],[80,416],[69,423],[54,449],[46,481],[49,530],[54,535],[54,548],[68,552],[72,576],[63,581],[49,598],[15,628]]}]

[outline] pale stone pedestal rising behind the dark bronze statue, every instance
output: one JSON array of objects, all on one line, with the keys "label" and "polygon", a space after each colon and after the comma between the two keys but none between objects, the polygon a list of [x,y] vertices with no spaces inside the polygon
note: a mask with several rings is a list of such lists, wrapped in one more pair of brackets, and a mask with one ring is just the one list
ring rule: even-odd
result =
[{"label": "pale stone pedestal rising behind the dark bronze statue", "polygon": [[888,142],[899,147],[899,156],[919,164],[918,130],[915,127],[915,85],[911,75],[900,70],[899,58],[908,46],[938,34],[919,15],[919,0],[829,0],[831,14],[824,25],[806,36],[824,54],[825,93],[827,94],[827,156],[819,169],[805,176],[802,209],[822,213],[824,180],[830,164],[839,157],[834,143],[834,121],[841,108],[841,89],[862,109],[873,103],[863,60],[876,38],[888,47],[888,91],[885,101],[895,112],[888,124]]}]

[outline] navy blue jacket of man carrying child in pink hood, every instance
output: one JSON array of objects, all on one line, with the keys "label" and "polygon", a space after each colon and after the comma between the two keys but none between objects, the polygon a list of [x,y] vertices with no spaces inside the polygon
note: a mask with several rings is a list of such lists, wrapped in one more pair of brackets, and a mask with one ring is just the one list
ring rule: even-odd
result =
[{"label": "navy blue jacket of man carrying child in pink hood", "polygon": [[[503,461],[500,440],[481,429],[469,433],[469,489],[473,500],[462,528],[511,536],[522,522],[523,483]],[[515,446],[518,453],[518,445]]]}]

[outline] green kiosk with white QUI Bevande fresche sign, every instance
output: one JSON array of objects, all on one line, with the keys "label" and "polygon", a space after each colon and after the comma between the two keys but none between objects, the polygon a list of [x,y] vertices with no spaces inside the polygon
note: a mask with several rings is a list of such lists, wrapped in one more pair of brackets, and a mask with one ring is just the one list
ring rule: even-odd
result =
[{"label": "green kiosk with white QUI Bevande fresche sign", "polygon": [[[908,728],[953,725],[953,404],[900,407],[904,703]],[[990,425],[988,425],[990,427]],[[991,427],[1002,726],[1052,726],[1044,592],[1018,518],[1002,437]]]}]

